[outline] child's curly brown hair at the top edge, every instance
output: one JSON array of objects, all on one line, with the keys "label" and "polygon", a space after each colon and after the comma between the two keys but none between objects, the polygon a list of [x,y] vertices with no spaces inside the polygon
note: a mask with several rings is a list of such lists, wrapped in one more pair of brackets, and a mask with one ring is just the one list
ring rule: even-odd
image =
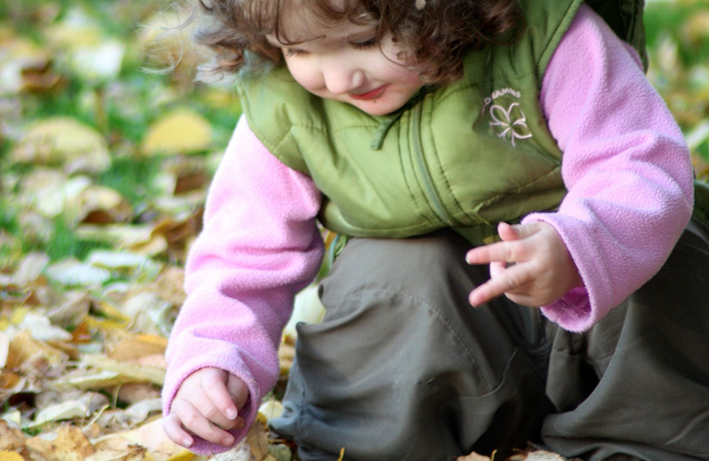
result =
[{"label": "child's curly brown hair at the top edge", "polygon": [[[267,40],[289,43],[284,18],[306,11],[324,23],[374,23],[381,38],[389,32],[406,50],[406,62],[429,83],[462,75],[466,52],[512,40],[522,21],[517,0],[198,0],[208,18],[196,40],[216,54],[201,74],[253,71],[282,62],[281,49]],[[400,56],[401,58],[401,56]]]}]

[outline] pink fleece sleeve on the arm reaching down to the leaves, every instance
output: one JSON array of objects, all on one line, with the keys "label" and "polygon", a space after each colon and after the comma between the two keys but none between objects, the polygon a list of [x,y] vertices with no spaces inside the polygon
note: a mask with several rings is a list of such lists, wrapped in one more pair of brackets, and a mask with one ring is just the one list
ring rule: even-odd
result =
[{"label": "pink fleece sleeve on the arm reaching down to the leaves", "polygon": [[[165,414],[189,374],[218,367],[246,382],[250,401],[242,416],[249,426],[254,421],[279,376],[277,348],[294,296],[320,267],[319,206],[311,179],[271,155],[242,117],[186,263],[187,299],[166,352]],[[245,431],[234,435],[240,440]],[[192,450],[225,448],[198,439]]]}]

